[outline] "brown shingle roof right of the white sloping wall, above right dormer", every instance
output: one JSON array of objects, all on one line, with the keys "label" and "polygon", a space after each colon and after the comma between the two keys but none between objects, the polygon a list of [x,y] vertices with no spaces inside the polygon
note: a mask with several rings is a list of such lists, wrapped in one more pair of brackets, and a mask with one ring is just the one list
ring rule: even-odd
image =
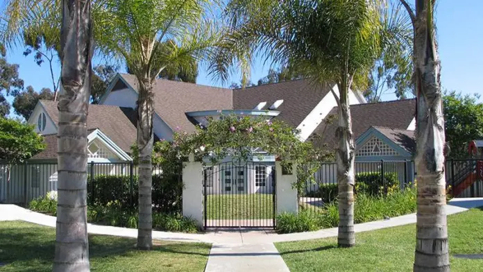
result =
[{"label": "brown shingle roof right of the white sloping wall, above right dormer", "polygon": [[[416,99],[351,105],[350,115],[352,117],[354,140],[357,140],[371,126],[406,130],[414,119],[415,112]],[[338,120],[337,107],[334,107],[329,114],[334,114],[336,117],[327,128],[322,123],[314,130],[312,135],[320,135],[320,137],[314,139],[315,146],[322,146],[322,144],[328,144],[329,148],[337,146],[335,137]]]}]

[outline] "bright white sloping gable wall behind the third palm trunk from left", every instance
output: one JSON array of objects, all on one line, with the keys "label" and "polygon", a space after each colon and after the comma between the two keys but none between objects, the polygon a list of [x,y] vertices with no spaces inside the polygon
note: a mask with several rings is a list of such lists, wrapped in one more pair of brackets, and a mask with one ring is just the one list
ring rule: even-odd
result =
[{"label": "bright white sloping gable wall behind the third palm trunk from left", "polygon": [[[334,85],[332,87],[334,92],[339,96],[339,88],[337,85]],[[349,90],[349,103],[350,105],[357,105],[361,102],[356,94],[352,90]],[[321,124],[323,119],[327,117],[327,114],[329,114],[330,110],[332,108],[337,107],[337,101],[332,95],[332,92],[329,92],[326,94],[323,99],[315,106],[315,108],[307,114],[307,117],[303,119],[303,121],[297,126],[297,129],[300,130],[300,139],[302,141],[307,140],[310,135],[314,132],[314,130]]]}]

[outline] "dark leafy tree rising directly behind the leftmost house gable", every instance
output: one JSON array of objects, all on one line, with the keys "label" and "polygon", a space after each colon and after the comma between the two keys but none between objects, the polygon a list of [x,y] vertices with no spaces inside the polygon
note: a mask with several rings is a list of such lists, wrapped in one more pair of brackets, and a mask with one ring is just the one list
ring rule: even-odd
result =
[{"label": "dark leafy tree rising directly behind the leftmost house gable", "polygon": [[32,86],[28,86],[26,90],[19,92],[13,99],[12,106],[15,113],[21,115],[26,120],[31,116],[35,105],[40,99],[53,100],[53,92],[49,88],[42,88],[39,92],[35,92]]}]

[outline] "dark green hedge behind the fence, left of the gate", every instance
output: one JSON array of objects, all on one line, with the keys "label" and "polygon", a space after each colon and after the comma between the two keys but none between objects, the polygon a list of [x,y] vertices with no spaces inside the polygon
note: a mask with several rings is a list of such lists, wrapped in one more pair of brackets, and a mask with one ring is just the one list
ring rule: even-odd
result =
[{"label": "dark green hedge behind the fence, left of the gate", "polygon": [[[132,189],[131,189],[132,186]],[[183,180],[180,175],[153,175],[153,211],[173,214],[181,212]],[[131,203],[132,200],[132,203]],[[107,205],[119,201],[124,207],[137,207],[138,177],[98,175],[87,179],[87,201],[90,205]]]}]

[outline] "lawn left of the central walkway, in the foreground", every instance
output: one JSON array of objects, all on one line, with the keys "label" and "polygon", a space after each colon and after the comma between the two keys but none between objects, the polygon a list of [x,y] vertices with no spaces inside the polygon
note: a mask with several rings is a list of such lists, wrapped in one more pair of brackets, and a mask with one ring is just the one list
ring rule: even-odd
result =
[{"label": "lawn left of the central walkway, in the foreground", "polygon": [[[55,239],[55,228],[0,222],[0,271],[52,271]],[[204,271],[209,244],[153,242],[139,251],[135,239],[89,235],[91,271]]]}]

